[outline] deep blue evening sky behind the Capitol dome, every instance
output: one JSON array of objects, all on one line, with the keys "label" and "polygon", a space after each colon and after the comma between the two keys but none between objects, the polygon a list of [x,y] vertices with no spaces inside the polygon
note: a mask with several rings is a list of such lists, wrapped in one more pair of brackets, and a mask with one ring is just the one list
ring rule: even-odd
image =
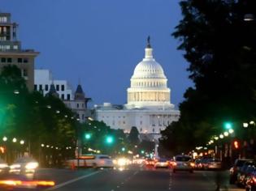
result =
[{"label": "deep blue evening sky behind the Capitol dome", "polygon": [[54,79],[80,82],[93,104],[126,103],[126,89],[151,36],[154,57],[163,66],[171,102],[179,104],[192,83],[188,64],[171,32],[181,14],[179,0],[0,0],[20,24],[24,49],[41,52],[38,69]]}]

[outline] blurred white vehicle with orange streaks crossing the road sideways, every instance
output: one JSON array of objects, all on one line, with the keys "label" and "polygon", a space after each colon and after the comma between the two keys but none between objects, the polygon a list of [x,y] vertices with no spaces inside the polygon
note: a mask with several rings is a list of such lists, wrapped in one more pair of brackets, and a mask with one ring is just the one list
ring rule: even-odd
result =
[{"label": "blurred white vehicle with orange streaks crossing the road sideways", "polygon": [[79,159],[67,160],[71,168],[114,168],[114,163],[108,155],[81,155]]}]

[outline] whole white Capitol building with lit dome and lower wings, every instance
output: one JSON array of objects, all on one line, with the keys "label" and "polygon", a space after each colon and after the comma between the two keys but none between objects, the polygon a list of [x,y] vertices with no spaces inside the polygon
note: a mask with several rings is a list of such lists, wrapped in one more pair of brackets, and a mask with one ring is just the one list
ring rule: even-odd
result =
[{"label": "whole white Capitol building with lit dome and lower wings", "polygon": [[171,104],[171,90],[162,66],[155,61],[150,38],[145,48],[145,57],[137,64],[127,90],[127,104],[104,103],[95,105],[96,119],[114,129],[129,133],[136,126],[143,136],[158,138],[160,131],[178,121],[180,111]]}]

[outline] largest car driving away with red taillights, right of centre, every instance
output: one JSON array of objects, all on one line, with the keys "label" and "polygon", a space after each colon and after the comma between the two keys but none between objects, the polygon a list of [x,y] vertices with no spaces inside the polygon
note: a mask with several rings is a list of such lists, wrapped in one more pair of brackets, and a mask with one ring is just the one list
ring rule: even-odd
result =
[{"label": "largest car driving away with red taillights, right of centre", "polygon": [[189,155],[176,155],[173,163],[172,172],[188,171],[193,173],[194,163]]}]

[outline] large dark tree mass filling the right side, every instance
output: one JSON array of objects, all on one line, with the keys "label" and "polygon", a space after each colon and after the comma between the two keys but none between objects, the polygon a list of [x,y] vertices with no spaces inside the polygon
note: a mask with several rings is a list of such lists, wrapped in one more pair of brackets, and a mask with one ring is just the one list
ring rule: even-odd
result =
[{"label": "large dark tree mass filling the right side", "polygon": [[221,132],[223,121],[256,116],[256,24],[244,19],[256,15],[256,6],[251,0],[184,0],[180,6],[183,19],[172,35],[194,87],[184,93],[180,121],[163,131],[162,142],[184,151]]}]

